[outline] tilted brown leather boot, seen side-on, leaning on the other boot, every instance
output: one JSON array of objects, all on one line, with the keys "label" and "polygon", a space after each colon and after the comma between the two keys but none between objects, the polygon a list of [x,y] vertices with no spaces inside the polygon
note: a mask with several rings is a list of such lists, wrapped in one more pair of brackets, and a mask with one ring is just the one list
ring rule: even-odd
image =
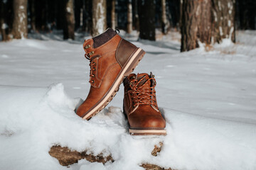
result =
[{"label": "tilted brown leather boot, seen side-on, leaning on the other boot", "polygon": [[76,113],[90,119],[112,100],[119,85],[137,66],[145,52],[108,28],[105,33],[85,40],[85,57],[90,60],[90,91]]}]

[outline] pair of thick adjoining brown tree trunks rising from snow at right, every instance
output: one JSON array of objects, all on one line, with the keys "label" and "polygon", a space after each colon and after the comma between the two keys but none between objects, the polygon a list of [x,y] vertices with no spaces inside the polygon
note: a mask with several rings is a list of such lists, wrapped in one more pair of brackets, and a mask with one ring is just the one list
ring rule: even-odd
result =
[{"label": "pair of thick adjoining brown tree trunks rising from snow at right", "polygon": [[235,0],[183,0],[181,52],[230,38],[235,42]]}]

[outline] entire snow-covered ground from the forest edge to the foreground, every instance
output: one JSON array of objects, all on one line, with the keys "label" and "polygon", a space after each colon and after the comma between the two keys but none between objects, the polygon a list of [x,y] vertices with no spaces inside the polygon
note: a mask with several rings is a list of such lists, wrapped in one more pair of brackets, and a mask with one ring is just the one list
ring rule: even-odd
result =
[{"label": "entire snow-covered ground from the forest edge to the foreground", "polygon": [[[104,111],[79,118],[73,110],[90,88],[83,38],[30,35],[0,42],[0,169],[256,169],[256,32],[238,32],[235,45],[224,40],[208,52],[183,53],[177,33],[157,42],[134,35],[124,36],[147,52],[134,72],[156,75],[168,134],[128,134],[122,84]],[[115,161],[67,168],[48,154],[53,145],[111,153]]]}]

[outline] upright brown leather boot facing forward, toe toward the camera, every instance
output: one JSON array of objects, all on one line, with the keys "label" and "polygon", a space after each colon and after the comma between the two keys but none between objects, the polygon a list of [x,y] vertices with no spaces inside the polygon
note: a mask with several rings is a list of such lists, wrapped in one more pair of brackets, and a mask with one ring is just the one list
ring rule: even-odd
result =
[{"label": "upright brown leather boot facing forward, toe toward the camera", "polygon": [[124,79],[124,115],[131,135],[166,135],[166,121],[156,103],[152,73],[130,74]]}]

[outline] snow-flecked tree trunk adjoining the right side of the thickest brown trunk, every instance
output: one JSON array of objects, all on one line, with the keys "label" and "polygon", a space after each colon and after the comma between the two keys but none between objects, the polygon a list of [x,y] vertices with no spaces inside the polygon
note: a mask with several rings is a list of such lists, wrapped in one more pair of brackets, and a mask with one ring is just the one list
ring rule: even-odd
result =
[{"label": "snow-flecked tree trunk adjoining the right side of the thickest brown trunk", "polygon": [[213,38],[221,42],[230,38],[235,42],[235,0],[212,0],[213,3]]}]

